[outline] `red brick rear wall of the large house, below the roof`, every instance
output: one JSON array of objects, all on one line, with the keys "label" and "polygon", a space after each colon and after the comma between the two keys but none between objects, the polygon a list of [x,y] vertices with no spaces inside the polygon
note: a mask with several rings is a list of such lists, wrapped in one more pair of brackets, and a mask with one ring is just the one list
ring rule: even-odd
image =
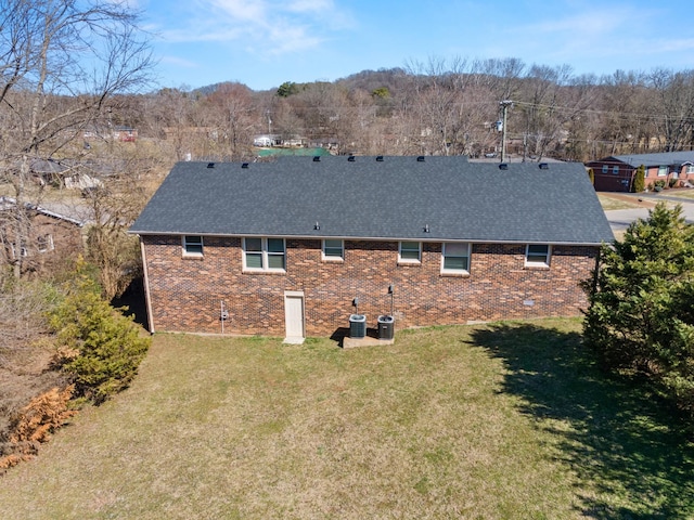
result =
[{"label": "red brick rear wall of the large house, below the roof", "polygon": [[420,264],[398,264],[398,243],[345,240],[345,260],[326,262],[319,239],[286,240],[286,274],[243,273],[241,238],[205,237],[204,258],[182,258],[179,236],[144,236],[154,329],[284,336],[284,291],[303,290],[306,334],[326,336],[359,313],[375,327],[390,313],[399,328],[473,320],[578,315],[597,248],[553,246],[550,269],[524,268],[524,245],[474,244],[470,276],[440,274],[441,244],[424,244]]}]

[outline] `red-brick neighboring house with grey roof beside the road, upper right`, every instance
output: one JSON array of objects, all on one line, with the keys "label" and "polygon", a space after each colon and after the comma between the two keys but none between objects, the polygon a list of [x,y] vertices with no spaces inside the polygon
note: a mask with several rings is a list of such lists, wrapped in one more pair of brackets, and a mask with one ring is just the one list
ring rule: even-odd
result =
[{"label": "red-brick neighboring house with grey roof beside the road, upper right", "polygon": [[595,177],[599,192],[630,192],[634,174],[645,166],[645,185],[685,185],[694,181],[694,152],[664,152],[660,154],[614,155],[587,162]]}]

